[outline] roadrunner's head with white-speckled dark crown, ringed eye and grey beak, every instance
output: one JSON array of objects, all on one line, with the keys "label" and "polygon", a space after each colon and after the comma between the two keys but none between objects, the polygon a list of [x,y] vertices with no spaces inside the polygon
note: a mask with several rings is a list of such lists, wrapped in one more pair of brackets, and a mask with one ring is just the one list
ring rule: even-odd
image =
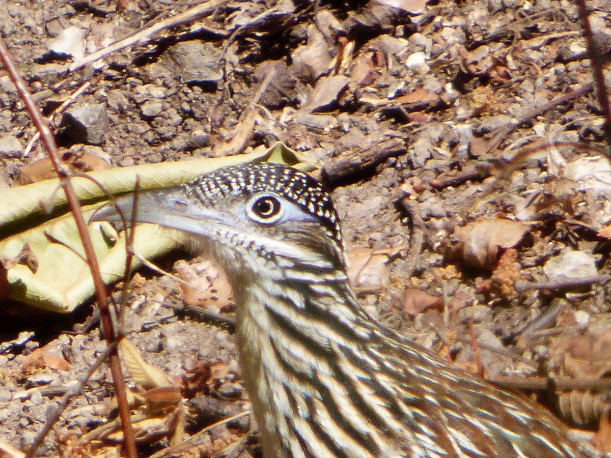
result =
[{"label": "roadrunner's head with white-speckled dark crown, ringed eye and grey beak", "polygon": [[[91,220],[119,221],[119,210],[131,220],[132,195],[104,205]],[[136,221],[185,231],[194,250],[208,251],[242,281],[263,269],[280,279],[295,264],[345,271],[329,193],[286,165],[232,165],[180,187],[141,192]]]}]

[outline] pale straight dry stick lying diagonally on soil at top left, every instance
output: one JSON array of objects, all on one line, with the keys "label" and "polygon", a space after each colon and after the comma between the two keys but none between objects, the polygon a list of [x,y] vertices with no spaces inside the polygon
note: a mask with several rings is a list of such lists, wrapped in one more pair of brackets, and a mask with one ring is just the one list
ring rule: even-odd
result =
[{"label": "pale straight dry stick lying diagonally on soil at top left", "polygon": [[108,54],[112,54],[115,51],[119,51],[119,49],[127,48],[131,45],[136,45],[139,42],[145,42],[151,35],[156,34],[163,29],[168,29],[169,27],[179,26],[181,24],[185,24],[191,21],[200,18],[200,16],[206,16],[210,13],[214,12],[219,6],[224,5],[229,0],[210,0],[204,2],[196,7],[192,7],[191,9],[186,10],[184,13],[177,14],[173,18],[165,19],[163,21],[159,21],[156,24],[148,27],[148,29],[144,29],[143,31],[137,32],[137,34],[131,35],[131,37],[127,37],[120,42],[112,43],[112,45],[108,46],[108,48],[100,49],[96,53],[89,54],[88,56],[83,57],[81,60],[78,60],[74,64],[71,64],[68,67],[69,71],[75,71],[79,68],[84,67],[87,64],[92,64],[96,60],[100,60]]}]

